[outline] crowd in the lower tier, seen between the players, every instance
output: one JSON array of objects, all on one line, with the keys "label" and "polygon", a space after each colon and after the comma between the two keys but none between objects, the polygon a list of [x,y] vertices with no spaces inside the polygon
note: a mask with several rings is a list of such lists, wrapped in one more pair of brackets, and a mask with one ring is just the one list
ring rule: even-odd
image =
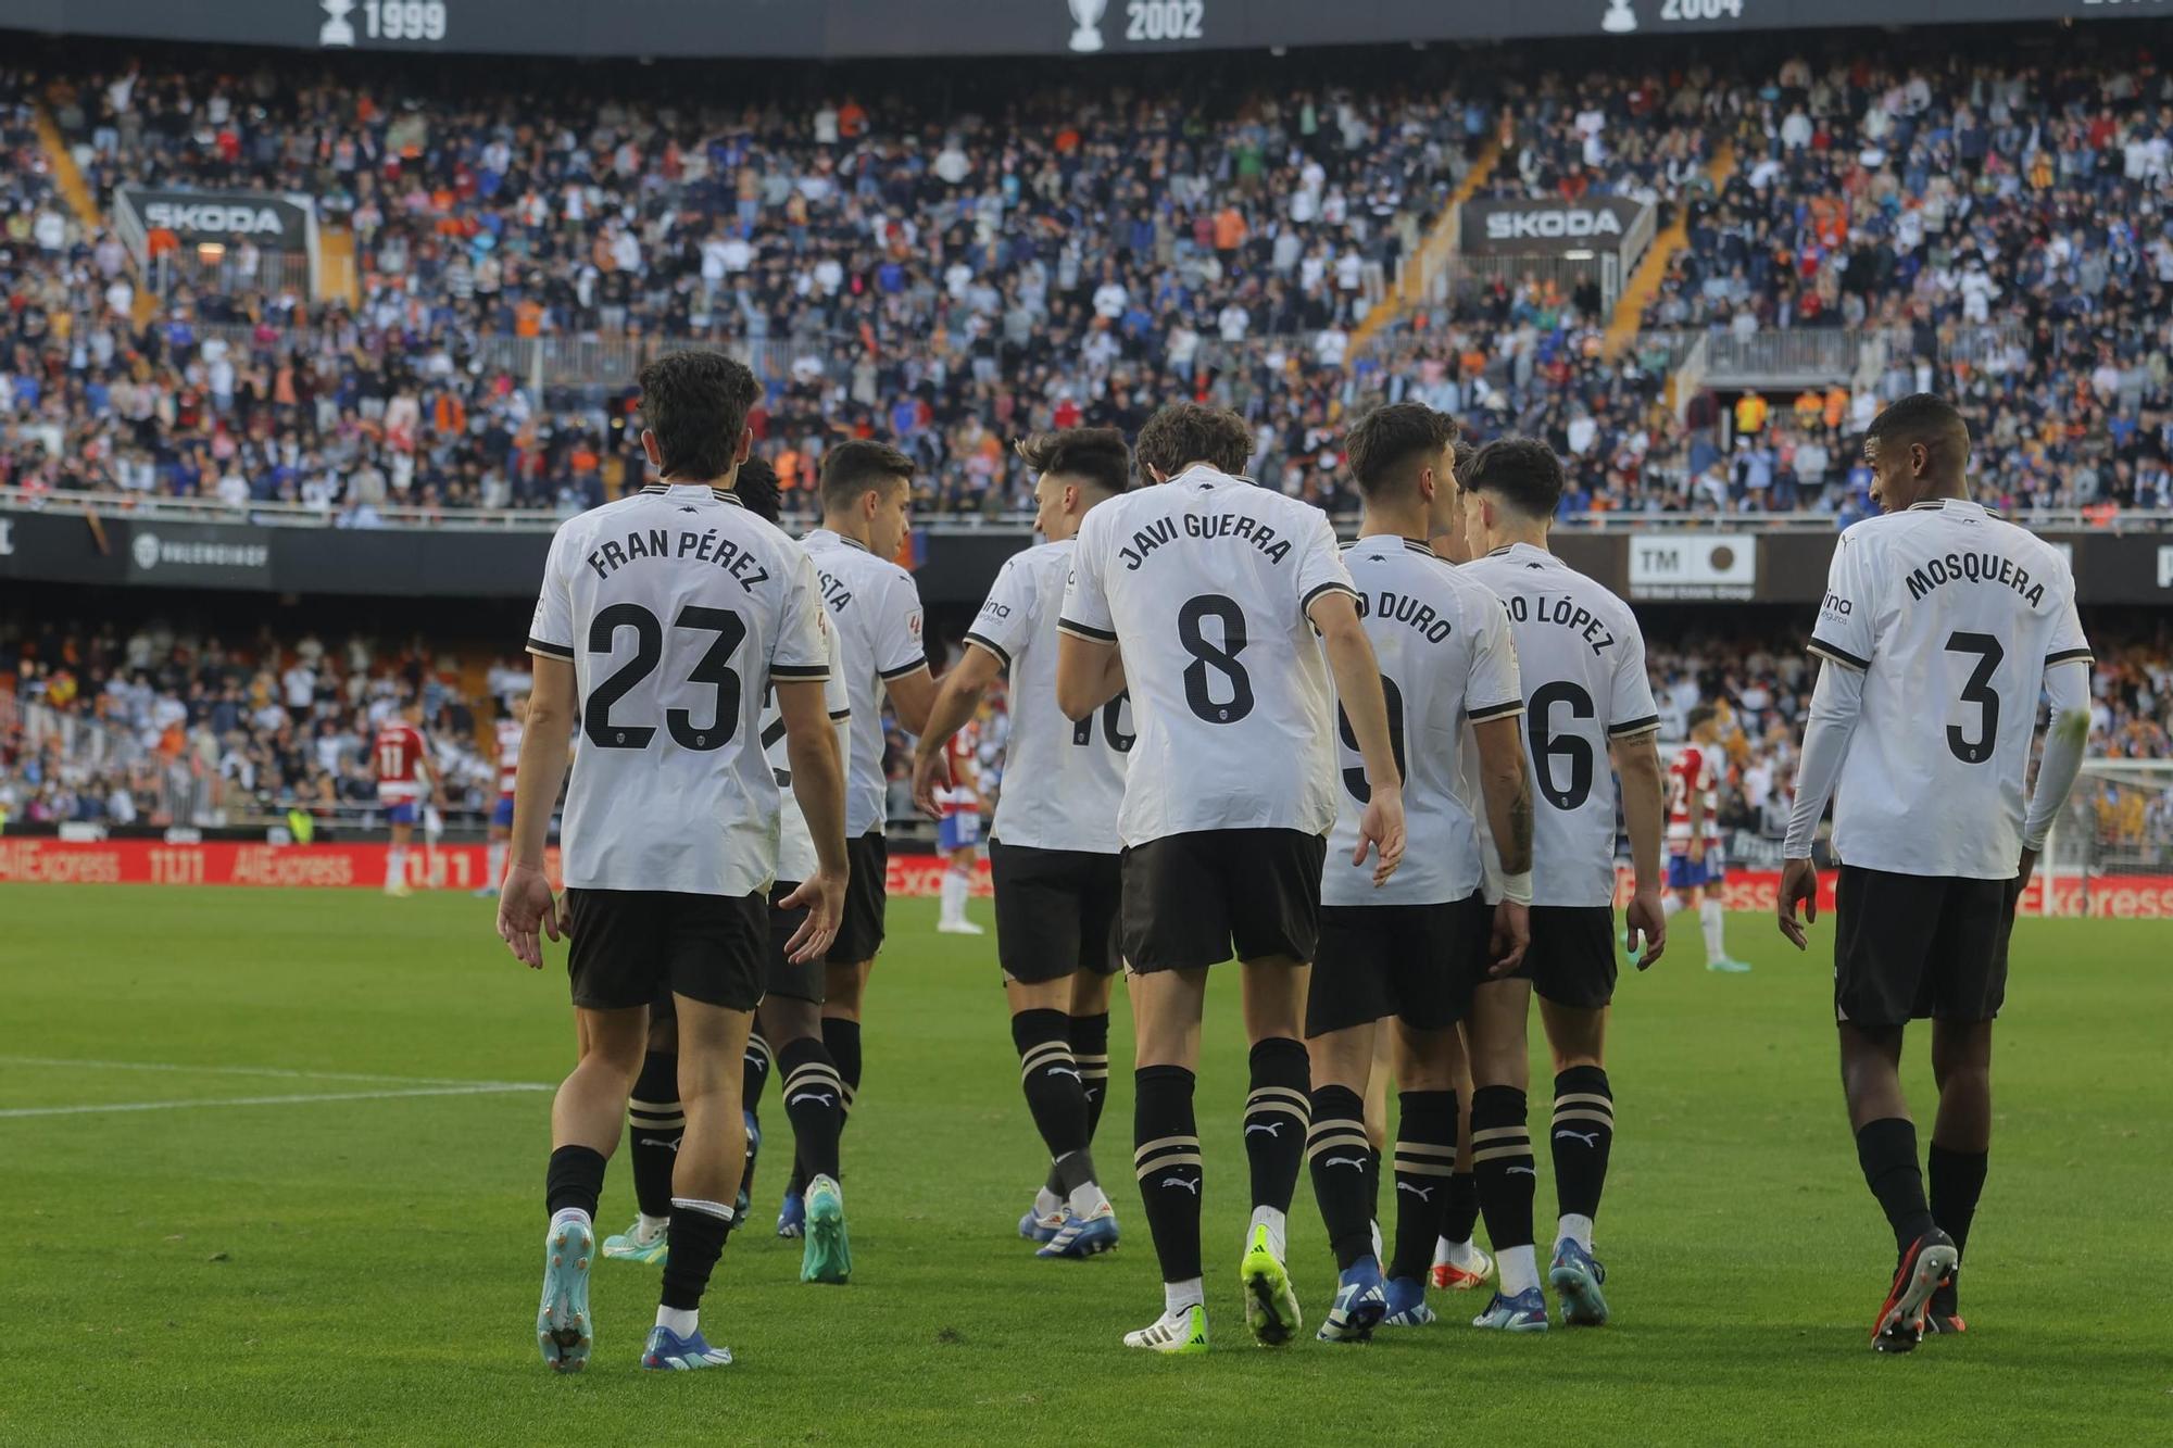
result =
[{"label": "crowd in the lower tier, seen between the players", "polygon": [[[2173,759],[2173,631],[2101,628],[2093,754]],[[1795,748],[1817,674],[1793,633],[1654,637],[1660,737],[1688,711],[1728,704],[1721,824],[1736,857],[1778,844]],[[28,824],[217,824],[302,811],[319,826],[372,824],[376,728],[419,700],[441,781],[437,804],[474,824],[495,798],[482,744],[495,702],[526,691],[519,659],[352,633],[219,637],[196,624],[0,622],[0,828]],[[891,817],[915,820],[913,741],[889,722]],[[1002,789],[1008,713],[978,720],[982,791]],[[2101,846],[2173,852],[2173,787],[2086,781]],[[1760,844],[1762,841],[1762,844]]]}]

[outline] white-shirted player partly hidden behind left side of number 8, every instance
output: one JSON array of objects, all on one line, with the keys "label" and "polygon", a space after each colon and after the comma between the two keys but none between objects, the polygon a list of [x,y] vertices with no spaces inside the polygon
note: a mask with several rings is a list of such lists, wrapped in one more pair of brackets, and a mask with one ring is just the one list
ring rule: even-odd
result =
[{"label": "white-shirted player partly hidden behind left side of number 8", "polygon": [[1132,483],[1117,428],[1037,433],[1019,444],[1034,470],[1034,528],[1047,539],[1013,554],[943,676],[913,757],[913,796],[934,807],[943,741],[974,717],[1000,670],[1010,674],[1010,746],[995,804],[995,959],[1010,998],[1026,1109],[1050,1148],[1050,1178],[1019,1220],[1037,1257],[1093,1257],[1117,1246],[1117,1213],[1093,1163],[1108,1096],[1108,983],[1117,948],[1117,807],[1132,748],[1119,694],[1073,724],[1056,709],[1056,615],[1073,539],[1091,509]]}]

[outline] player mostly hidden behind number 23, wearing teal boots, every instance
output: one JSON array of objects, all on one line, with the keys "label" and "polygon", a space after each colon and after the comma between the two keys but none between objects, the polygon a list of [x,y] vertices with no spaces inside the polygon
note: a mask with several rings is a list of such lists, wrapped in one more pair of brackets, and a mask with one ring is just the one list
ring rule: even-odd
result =
[{"label": "player mostly hidden behind number 23, wearing teal boots", "polygon": [[[778,522],[778,474],[761,457],[739,465],[732,496],[763,522]],[[824,681],[824,704],[837,728],[837,757],[852,750],[852,709],[845,698],[845,657],[837,628],[828,631],[830,678]],[[800,1252],[800,1281],[845,1283],[852,1278],[852,1246],[845,1233],[845,1194],[839,1185],[839,1131],[845,1124],[845,1083],[821,1039],[821,1002],[826,965],[819,959],[795,961],[789,941],[806,920],[806,907],[787,904],[804,881],[815,874],[815,837],[806,815],[791,796],[793,767],[784,715],[778,694],[763,698],[763,754],[778,781],[778,878],[769,887],[769,944],[765,950],[763,1004],[754,1013],[754,1031],[741,1072],[741,1120],[748,1128],[745,1174],[732,1198],[734,1215],[745,1213],[754,1189],[754,1163],[763,1144],[758,1111],[769,1085],[771,1059],[784,1072],[784,1115],[793,1124],[795,1161],[808,1163],[808,1185],[802,1196],[806,1241]],[[604,1237],[604,1257],[619,1261],[665,1261],[665,1237],[671,1224],[671,1168],[684,1139],[684,1113],[678,1102],[678,1020],[671,994],[650,1004],[650,1052],[635,1078],[635,1096],[626,1111],[628,1148],[635,1165],[635,1200],[641,1215],[617,1235]]]}]

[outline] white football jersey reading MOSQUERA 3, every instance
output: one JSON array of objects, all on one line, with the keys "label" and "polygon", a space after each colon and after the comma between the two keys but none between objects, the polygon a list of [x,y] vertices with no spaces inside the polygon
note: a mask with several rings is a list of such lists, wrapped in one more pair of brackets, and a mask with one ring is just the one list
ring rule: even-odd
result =
[{"label": "white football jersey reading MOSQUERA 3", "polygon": [[1864,674],[1834,852],[2012,878],[2045,670],[2090,661],[2067,559],[1960,498],[1867,517],[1834,546],[1810,652]]}]

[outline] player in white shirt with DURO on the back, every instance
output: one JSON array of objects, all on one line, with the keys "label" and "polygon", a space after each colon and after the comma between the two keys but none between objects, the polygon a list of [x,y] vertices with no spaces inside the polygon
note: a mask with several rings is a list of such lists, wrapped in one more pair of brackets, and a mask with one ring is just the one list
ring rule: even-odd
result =
[{"label": "player in white shirt with DURO on the back", "polygon": [[[1369,413],[1345,450],[1365,494],[1360,537],[1343,550],[1358,613],[1380,659],[1389,737],[1404,772],[1408,844],[1395,878],[1376,887],[1352,865],[1358,811],[1371,798],[1349,739],[1345,802],[1321,874],[1321,941],[1306,1002],[1312,1128],[1306,1161],[1341,1274],[1323,1341],[1365,1341],[1373,1326],[1423,1326],[1425,1281],[1456,1168],[1456,1087],[1465,1050],[1456,1022],[1489,965],[1523,952],[1519,896],[1530,859],[1502,861],[1510,900],[1486,904],[1478,794],[1493,839],[1530,839],[1532,789],[1517,737],[1523,694],[1508,615],[1486,585],[1439,559],[1430,539],[1454,502],[1456,422],[1419,402]],[[1467,728],[1469,726],[1469,728]],[[1467,754],[1480,791],[1467,791]],[[1493,950],[1502,931],[1506,948]],[[1395,1018],[1395,1257],[1386,1278],[1373,1246],[1378,1159],[1362,1100],[1378,1026]]]}]

